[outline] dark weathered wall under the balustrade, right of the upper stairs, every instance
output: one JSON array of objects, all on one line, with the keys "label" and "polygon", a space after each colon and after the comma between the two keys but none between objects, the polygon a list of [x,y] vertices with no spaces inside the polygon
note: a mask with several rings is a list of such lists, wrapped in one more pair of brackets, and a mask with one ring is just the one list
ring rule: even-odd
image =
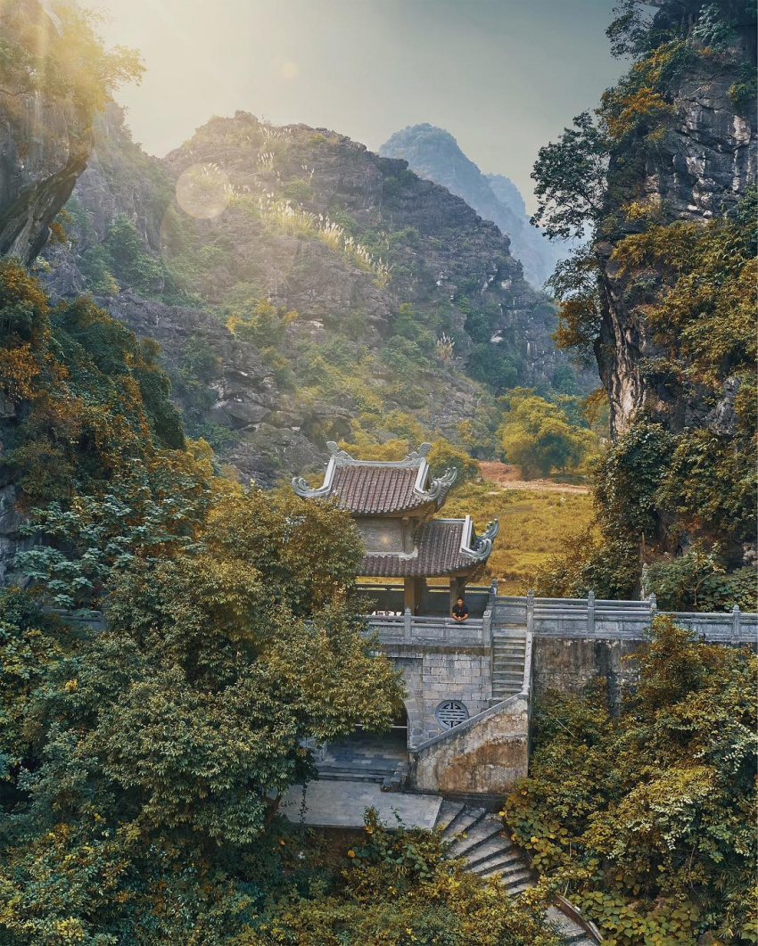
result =
[{"label": "dark weathered wall under the balustrade, right of the upper stairs", "polygon": [[534,687],[537,695],[547,690],[580,692],[596,677],[608,684],[608,698],[617,704],[637,675],[631,657],[642,640],[582,638],[535,638]]}]

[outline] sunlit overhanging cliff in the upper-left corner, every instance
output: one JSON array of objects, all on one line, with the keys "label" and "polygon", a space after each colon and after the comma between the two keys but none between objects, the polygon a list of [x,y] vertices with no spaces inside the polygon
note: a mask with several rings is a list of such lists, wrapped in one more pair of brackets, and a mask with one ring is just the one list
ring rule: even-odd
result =
[{"label": "sunlit overhanging cliff in the upper-left corner", "polygon": [[[62,30],[36,0],[14,4],[4,21],[7,38],[20,22],[42,48]],[[50,95],[33,81],[30,67],[13,67],[18,48],[9,43],[0,64],[0,254],[30,263],[86,166],[92,135],[73,95]]]}]

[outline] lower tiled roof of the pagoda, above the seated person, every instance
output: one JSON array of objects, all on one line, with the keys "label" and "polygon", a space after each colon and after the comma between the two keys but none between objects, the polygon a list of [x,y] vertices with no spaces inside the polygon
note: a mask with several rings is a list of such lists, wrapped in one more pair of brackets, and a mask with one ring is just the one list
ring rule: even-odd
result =
[{"label": "lower tiled roof of the pagoda, above the seated person", "polygon": [[487,525],[481,536],[476,535],[469,516],[431,519],[419,525],[414,552],[365,555],[359,573],[371,578],[434,578],[481,571],[498,531],[497,519]]}]

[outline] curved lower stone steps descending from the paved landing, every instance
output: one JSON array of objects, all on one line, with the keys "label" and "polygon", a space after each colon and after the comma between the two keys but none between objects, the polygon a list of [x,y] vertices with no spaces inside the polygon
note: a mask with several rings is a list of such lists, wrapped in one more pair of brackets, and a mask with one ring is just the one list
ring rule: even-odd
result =
[{"label": "curved lower stone steps descending from the paved landing", "polygon": [[[532,885],[529,867],[503,831],[497,815],[445,800],[437,816],[437,828],[442,828],[442,836],[451,841],[448,857],[465,858],[467,869],[480,877],[498,878],[512,897]],[[596,940],[557,907],[548,908],[547,918],[570,946],[595,946]]]}]

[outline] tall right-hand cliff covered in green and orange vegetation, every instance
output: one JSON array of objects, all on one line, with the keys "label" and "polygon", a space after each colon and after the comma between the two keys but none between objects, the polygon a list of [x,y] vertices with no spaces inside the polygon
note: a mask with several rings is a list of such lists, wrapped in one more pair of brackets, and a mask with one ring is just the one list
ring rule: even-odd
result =
[{"label": "tall right-hand cliff covered in green and orange vegetation", "polygon": [[598,537],[540,587],[698,607],[707,581],[710,606],[754,609],[755,6],[656,8],[622,4],[629,72],[535,166],[547,232],[592,232],[553,279],[557,338],[597,360],[613,440]]}]

